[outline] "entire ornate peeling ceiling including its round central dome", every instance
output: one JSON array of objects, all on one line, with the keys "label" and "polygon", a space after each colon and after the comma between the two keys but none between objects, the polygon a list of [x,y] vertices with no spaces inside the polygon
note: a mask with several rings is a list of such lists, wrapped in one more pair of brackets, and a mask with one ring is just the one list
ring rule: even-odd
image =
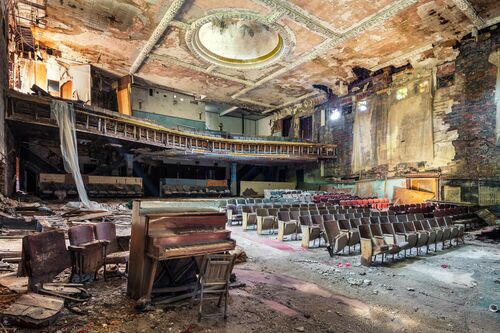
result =
[{"label": "entire ornate peeling ceiling including its round central dome", "polygon": [[44,15],[34,37],[66,60],[271,112],[313,84],[341,91],[355,67],[453,58],[500,1],[48,0]]}]

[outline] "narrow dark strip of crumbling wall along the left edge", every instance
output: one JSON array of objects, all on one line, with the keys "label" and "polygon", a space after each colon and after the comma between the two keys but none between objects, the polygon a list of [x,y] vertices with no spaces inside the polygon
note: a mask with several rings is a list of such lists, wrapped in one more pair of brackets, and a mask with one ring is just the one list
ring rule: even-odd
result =
[{"label": "narrow dark strip of crumbling wall along the left edge", "polygon": [[6,154],[5,148],[5,92],[8,86],[8,52],[7,52],[7,9],[6,2],[0,0],[0,191],[6,193]]}]

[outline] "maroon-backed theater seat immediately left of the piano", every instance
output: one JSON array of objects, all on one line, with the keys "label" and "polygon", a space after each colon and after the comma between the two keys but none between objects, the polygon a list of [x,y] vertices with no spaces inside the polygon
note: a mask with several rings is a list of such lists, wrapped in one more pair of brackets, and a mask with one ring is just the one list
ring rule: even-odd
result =
[{"label": "maroon-backed theater seat immediately left of the piano", "polygon": [[104,281],[107,279],[106,265],[125,265],[128,273],[130,236],[116,236],[116,226],[112,222],[101,222],[94,225],[96,240],[104,242]]}]

